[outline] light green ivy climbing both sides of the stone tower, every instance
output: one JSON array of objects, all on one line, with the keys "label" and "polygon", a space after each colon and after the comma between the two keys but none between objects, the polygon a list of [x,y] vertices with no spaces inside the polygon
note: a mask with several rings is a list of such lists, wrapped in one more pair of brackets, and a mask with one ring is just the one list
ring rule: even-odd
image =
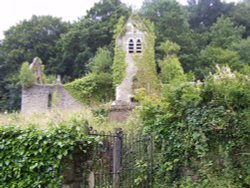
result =
[{"label": "light green ivy climbing both sides of the stone tower", "polygon": [[[141,20],[137,14],[131,15],[133,24],[140,31],[145,33],[145,45],[143,46],[142,55],[134,55],[138,72],[134,81],[134,89],[145,88],[147,94],[158,93],[158,78],[156,72],[155,55],[154,55],[154,26],[148,20]],[[118,22],[116,27],[116,40],[125,34],[124,19]],[[119,85],[125,78],[126,74],[126,52],[118,46],[116,42],[115,57],[113,64],[113,83]]]}]

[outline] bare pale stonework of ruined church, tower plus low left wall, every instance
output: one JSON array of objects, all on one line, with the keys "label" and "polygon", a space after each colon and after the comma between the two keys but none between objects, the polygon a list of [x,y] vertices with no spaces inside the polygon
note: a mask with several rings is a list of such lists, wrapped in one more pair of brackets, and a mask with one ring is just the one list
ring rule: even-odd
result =
[{"label": "bare pale stonework of ruined church, tower plus low left wall", "polygon": [[[125,120],[135,107],[134,90],[135,82],[138,82],[140,78],[138,75],[148,74],[148,80],[140,78],[141,83],[145,82],[147,88],[151,87],[151,82],[153,83],[157,79],[156,76],[150,76],[150,73],[145,72],[149,69],[150,72],[156,73],[155,70],[152,70],[155,69],[154,65],[151,67],[147,65],[148,59],[154,60],[154,43],[149,43],[146,26],[143,23],[140,24],[142,27],[139,28],[138,21],[129,18],[123,28],[123,31],[126,32],[120,34],[116,39],[117,48],[125,54],[126,70],[123,80],[116,86],[115,100],[110,110],[110,119],[115,121]],[[152,40],[154,42],[154,39]],[[148,55],[151,56],[148,58]],[[138,63],[139,60],[142,63]],[[53,109],[80,108],[81,105],[63,88],[60,80],[53,85],[43,84],[39,66],[34,59],[31,69],[37,77],[37,82],[34,86],[23,89],[21,111],[23,113],[41,113]]]}]

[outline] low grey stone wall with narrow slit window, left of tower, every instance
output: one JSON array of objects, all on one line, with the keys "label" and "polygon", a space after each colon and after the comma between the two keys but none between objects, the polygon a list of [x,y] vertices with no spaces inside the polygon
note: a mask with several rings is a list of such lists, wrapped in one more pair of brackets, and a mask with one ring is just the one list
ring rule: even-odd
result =
[{"label": "low grey stone wall with narrow slit window, left of tower", "polygon": [[49,111],[78,110],[81,105],[63,85],[34,85],[22,90],[21,112],[25,114]]}]

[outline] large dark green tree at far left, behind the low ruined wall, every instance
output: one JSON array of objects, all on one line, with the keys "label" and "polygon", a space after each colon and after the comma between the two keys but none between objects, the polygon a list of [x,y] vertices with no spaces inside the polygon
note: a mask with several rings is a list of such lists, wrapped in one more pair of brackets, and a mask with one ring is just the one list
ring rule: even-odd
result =
[{"label": "large dark green tree at far left, behind the low ruined wall", "polygon": [[56,74],[53,72],[56,65],[50,64],[50,58],[56,56],[56,42],[67,31],[68,25],[59,18],[32,16],[5,32],[0,47],[0,111],[20,108],[18,74],[22,62],[30,62],[35,56],[42,57],[47,65],[46,73]]}]

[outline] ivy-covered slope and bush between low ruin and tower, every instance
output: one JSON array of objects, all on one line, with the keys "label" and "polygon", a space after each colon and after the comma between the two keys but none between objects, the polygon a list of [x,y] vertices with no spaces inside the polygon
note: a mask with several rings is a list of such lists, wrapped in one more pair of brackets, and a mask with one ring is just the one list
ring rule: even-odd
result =
[{"label": "ivy-covered slope and bush between low ruin and tower", "polygon": [[83,104],[109,102],[114,95],[111,67],[111,52],[99,48],[89,64],[91,72],[64,87]]}]

